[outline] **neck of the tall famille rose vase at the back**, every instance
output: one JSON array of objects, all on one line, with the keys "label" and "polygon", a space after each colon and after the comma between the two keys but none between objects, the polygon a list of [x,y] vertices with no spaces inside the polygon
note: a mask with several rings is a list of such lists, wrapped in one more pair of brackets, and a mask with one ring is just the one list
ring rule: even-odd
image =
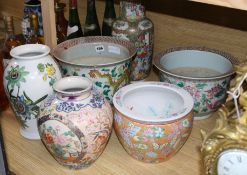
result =
[{"label": "neck of the tall famille rose vase at the back", "polygon": [[130,21],[145,17],[145,7],[140,2],[120,1],[120,16]]}]

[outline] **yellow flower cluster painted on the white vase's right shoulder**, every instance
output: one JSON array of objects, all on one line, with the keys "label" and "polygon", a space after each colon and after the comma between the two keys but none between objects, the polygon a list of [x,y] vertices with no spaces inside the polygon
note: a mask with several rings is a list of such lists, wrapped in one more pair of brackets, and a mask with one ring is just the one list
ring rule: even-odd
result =
[{"label": "yellow flower cluster painted on the white vase's right shoulder", "polygon": [[54,68],[54,66],[50,63],[47,64],[39,63],[37,65],[37,68],[39,72],[43,74],[43,80],[47,81],[47,79],[49,79],[49,84],[50,86],[52,86],[56,81],[56,76],[55,76],[56,69]]}]

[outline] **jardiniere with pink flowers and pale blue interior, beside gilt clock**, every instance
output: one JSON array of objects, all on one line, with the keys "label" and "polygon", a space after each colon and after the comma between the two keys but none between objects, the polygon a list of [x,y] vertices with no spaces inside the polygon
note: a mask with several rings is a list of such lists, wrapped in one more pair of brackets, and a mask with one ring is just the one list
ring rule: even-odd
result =
[{"label": "jardiniere with pink flowers and pale blue interior, beside gilt clock", "polygon": [[188,91],[194,99],[195,119],[205,119],[226,99],[234,74],[231,55],[205,47],[167,49],[154,57],[160,80]]}]

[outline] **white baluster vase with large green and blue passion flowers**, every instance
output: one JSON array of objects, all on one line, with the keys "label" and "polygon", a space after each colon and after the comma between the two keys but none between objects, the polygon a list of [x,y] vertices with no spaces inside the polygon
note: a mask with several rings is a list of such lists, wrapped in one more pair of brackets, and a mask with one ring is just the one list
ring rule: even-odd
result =
[{"label": "white baluster vase with large green and blue passion flowers", "polygon": [[50,48],[41,44],[15,47],[4,71],[4,88],[17,120],[20,133],[28,139],[40,139],[37,115],[40,103],[53,93],[52,85],[61,78]]}]

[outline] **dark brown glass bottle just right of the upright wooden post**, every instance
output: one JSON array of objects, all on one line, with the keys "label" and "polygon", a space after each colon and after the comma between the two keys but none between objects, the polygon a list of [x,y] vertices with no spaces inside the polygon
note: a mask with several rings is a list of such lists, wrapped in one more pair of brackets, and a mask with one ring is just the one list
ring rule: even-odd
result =
[{"label": "dark brown glass bottle just right of the upright wooden post", "polygon": [[65,3],[56,2],[56,30],[57,30],[57,44],[67,39],[68,21],[64,17]]}]

